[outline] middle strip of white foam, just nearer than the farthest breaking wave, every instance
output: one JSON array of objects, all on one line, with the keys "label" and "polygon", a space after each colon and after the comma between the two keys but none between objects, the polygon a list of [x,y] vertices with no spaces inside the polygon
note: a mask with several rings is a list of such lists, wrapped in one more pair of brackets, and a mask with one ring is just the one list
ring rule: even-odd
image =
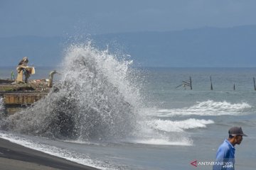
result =
[{"label": "middle strip of white foam, just nearer than the farthest breaking wave", "polygon": [[206,125],[214,123],[213,120],[198,120],[190,118],[188,120],[171,121],[171,120],[150,120],[147,124],[151,128],[163,130],[166,132],[183,132],[188,129],[206,128]]}]

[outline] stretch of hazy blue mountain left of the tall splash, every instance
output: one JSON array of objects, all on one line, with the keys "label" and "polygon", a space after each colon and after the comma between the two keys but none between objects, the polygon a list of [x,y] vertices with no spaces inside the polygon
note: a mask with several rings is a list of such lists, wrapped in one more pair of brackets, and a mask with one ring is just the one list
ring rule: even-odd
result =
[{"label": "stretch of hazy blue mountain left of the tall splash", "polygon": [[18,36],[0,38],[0,66],[16,66],[25,56],[29,64],[53,65],[60,60],[60,37]]}]

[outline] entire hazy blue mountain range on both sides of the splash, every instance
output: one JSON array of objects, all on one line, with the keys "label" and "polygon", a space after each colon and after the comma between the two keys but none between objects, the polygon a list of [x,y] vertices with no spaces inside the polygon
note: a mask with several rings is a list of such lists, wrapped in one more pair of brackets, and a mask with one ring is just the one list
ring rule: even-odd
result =
[{"label": "entire hazy blue mountain range on both sides of the splash", "polygon": [[[256,26],[200,28],[171,32],[91,35],[100,49],[131,55],[143,67],[256,67]],[[0,38],[0,66],[23,57],[37,65],[60,63],[64,38]]]}]

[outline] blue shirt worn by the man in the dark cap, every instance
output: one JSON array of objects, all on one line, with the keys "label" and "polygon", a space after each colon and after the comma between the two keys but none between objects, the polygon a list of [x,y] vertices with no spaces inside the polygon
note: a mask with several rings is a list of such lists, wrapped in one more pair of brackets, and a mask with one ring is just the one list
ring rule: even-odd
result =
[{"label": "blue shirt worn by the man in the dark cap", "polygon": [[234,170],[235,169],[235,147],[228,141],[224,140],[216,154],[213,170]]}]

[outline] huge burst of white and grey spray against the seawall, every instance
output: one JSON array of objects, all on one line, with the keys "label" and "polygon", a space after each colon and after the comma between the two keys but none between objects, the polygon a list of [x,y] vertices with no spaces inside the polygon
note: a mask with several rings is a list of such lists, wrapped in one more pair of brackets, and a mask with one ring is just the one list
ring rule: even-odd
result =
[{"label": "huge burst of white and grey spray against the seawall", "polygon": [[80,140],[129,136],[137,128],[140,103],[130,64],[90,43],[70,45],[60,82],[33,107],[9,116],[2,128]]}]

